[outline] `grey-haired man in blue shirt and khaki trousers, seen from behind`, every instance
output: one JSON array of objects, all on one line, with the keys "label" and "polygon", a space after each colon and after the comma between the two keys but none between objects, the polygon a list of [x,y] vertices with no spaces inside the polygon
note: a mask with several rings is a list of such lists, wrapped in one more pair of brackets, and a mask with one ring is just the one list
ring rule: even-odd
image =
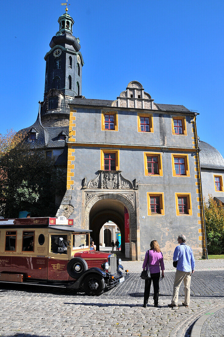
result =
[{"label": "grey-haired man in blue shirt and khaki trousers, seen from behind", "polygon": [[185,300],[182,305],[185,307],[189,306],[191,275],[194,273],[195,268],[194,255],[191,247],[185,243],[185,235],[179,235],[177,240],[180,246],[177,246],[173,253],[173,261],[177,261],[178,263],[173,284],[173,298],[171,304],[168,304],[170,308],[178,306],[178,293],[183,280]]}]

